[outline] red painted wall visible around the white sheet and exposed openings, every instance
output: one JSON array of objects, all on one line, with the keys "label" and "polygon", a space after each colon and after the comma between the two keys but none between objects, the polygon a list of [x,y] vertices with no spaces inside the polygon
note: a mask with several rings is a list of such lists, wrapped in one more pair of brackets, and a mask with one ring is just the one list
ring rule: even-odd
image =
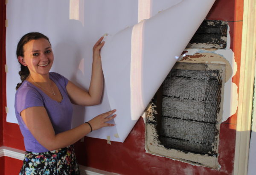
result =
[{"label": "red painted wall visible around the white sheet and exposed openings", "polygon": [[[231,36],[230,47],[235,54],[235,60],[238,65],[237,73],[233,77],[232,81],[238,87],[241,56],[242,17],[243,0],[216,0],[207,16],[207,19],[209,20],[224,20],[228,21],[229,23]],[[3,23],[1,23],[1,25],[2,27],[0,27],[0,30],[5,30]],[[0,48],[5,48],[4,45],[5,44],[2,42]],[[5,59],[1,59],[1,68],[4,68],[4,64]],[[4,69],[1,70],[0,83],[3,82],[3,85],[0,84],[3,86],[3,104],[1,104],[1,110],[3,110],[3,138],[0,136],[0,144],[3,143],[4,146],[7,147],[25,150],[23,138],[18,125],[6,122],[6,80],[5,73],[3,71]],[[145,124],[143,119],[138,120],[137,124],[134,126],[124,143],[111,142],[111,145],[109,145],[105,140],[85,137],[84,142],[78,142],[75,144],[76,154],[79,164],[124,175],[232,174],[236,140],[236,118],[237,114],[234,114],[227,119],[227,121],[221,124],[218,158],[218,161],[221,164],[221,170],[219,171],[205,167],[193,166],[183,162],[174,161],[169,158],[158,157],[145,153]],[[0,125],[0,135],[2,135],[2,125]],[[2,161],[3,158],[0,158],[0,163]],[[16,160],[16,166],[13,166],[11,161],[13,161],[12,158],[5,158],[5,171],[12,171],[11,174],[17,174],[22,162]],[[12,167],[10,165],[12,165]]]}]

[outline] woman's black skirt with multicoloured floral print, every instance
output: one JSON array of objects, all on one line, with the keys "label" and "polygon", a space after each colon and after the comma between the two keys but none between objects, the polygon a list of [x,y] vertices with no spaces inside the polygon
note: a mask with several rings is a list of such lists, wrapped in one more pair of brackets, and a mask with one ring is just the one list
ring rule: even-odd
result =
[{"label": "woman's black skirt with multicoloured floral print", "polygon": [[80,175],[73,145],[48,152],[26,151],[19,175]]}]

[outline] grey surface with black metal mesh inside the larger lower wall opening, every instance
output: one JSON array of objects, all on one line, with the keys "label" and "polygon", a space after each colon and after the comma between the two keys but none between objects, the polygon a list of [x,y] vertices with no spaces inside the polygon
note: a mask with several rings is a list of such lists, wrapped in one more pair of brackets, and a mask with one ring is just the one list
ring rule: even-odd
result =
[{"label": "grey surface with black metal mesh inside the larger lower wall opening", "polygon": [[221,70],[173,69],[163,83],[160,143],[214,155],[221,104]]}]

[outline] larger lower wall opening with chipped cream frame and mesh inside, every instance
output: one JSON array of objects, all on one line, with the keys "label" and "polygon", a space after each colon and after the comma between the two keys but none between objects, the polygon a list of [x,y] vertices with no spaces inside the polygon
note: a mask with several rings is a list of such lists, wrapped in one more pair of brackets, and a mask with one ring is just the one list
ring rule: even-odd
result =
[{"label": "larger lower wall opening with chipped cream frame and mesh inside", "polygon": [[225,64],[176,63],[146,113],[146,150],[218,169],[224,82]]}]

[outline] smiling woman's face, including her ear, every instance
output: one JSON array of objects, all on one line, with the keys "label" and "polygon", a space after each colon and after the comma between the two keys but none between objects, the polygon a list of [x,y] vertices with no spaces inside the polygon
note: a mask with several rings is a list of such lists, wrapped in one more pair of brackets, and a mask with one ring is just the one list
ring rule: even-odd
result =
[{"label": "smiling woman's face, including her ear", "polygon": [[50,43],[40,38],[38,40],[30,40],[23,45],[23,55],[18,59],[21,64],[29,68],[30,74],[48,74],[53,63],[53,53]]}]

